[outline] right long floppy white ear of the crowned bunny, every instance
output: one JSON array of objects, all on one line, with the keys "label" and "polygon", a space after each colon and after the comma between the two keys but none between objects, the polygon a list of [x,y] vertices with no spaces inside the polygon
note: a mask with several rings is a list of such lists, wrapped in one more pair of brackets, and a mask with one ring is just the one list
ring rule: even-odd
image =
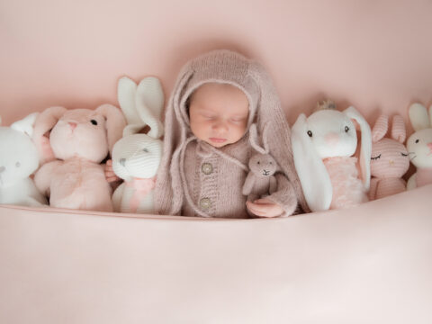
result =
[{"label": "right long floppy white ear of the crowned bunny", "polygon": [[360,149],[360,169],[362,171],[362,180],[365,189],[369,190],[371,184],[371,154],[372,154],[372,134],[371,127],[365,121],[365,118],[357,112],[353,106],[348,107],[345,114],[351,119],[357,121],[362,132],[362,147]]}]

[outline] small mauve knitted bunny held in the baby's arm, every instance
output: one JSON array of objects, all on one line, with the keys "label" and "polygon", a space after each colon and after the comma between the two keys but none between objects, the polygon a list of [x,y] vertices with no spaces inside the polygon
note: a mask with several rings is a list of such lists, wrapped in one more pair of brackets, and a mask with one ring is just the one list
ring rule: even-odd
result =
[{"label": "small mauve knitted bunny held in the baby's arm", "polygon": [[277,182],[275,172],[277,171],[277,162],[269,154],[266,139],[266,130],[263,134],[264,148],[257,144],[257,125],[250,126],[250,144],[257,150],[257,154],[249,159],[249,173],[247,174],[245,184],[243,184],[243,194],[247,195],[248,202],[254,202],[258,198],[265,197],[275,193]]}]

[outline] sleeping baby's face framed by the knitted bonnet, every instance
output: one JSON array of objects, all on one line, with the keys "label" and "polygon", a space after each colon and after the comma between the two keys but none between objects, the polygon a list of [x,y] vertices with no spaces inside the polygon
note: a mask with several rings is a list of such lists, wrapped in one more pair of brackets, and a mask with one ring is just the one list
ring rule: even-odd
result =
[{"label": "sleeping baby's face framed by the knitted bonnet", "polygon": [[193,135],[215,148],[237,142],[246,132],[248,106],[246,94],[237,86],[201,85],[189,105]]}]

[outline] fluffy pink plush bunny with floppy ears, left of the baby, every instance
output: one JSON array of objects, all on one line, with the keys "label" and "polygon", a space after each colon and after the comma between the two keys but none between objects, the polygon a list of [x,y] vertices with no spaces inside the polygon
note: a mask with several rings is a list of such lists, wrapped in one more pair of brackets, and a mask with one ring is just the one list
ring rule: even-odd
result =
[{"label": "fluffy pink plush bunny with floppy ears, left of the baby", "polygon": [[51,107],[40,113],[33,140],[42,159],[52,155],[57,160],[41,166],[34,182],[52,207],[112,211],[112,188],[100,163],[125,126],[121,111],[110,104],[96,110]]}]

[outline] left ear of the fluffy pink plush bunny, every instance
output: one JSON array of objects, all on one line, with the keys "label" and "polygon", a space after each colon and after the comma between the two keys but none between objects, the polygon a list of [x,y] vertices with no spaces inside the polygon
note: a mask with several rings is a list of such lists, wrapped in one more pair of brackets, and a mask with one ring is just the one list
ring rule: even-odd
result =
[{"label": "left ear of the fluffy pink plush bunny", "polygon": [[33,143],[38,148],[40,164],[54,160],[56,157],[52,152],[49,138],[45,137],[45,133],[52,130],[57,121],[67,112],[64,107],[50,107],[36,117],[33,127]]}]

